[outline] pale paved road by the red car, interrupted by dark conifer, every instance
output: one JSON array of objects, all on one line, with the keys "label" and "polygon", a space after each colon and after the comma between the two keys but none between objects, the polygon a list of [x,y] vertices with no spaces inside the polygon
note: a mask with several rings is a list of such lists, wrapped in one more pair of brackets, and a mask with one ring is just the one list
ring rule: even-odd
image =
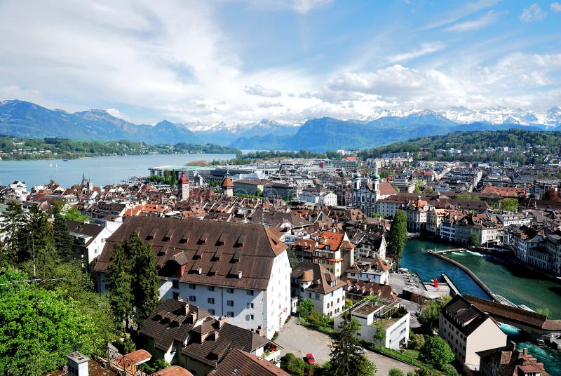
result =
[{"label": "pale paved road by the red car, interrupted by dark conifer", "polygon": [[[283,347],[280,350],[280,355],[291,352],[295,356],[304,358],[306,354],[312,353],[316,358],[318,364],[323,364],[330,359],[331,352],[331,338],[328,335],[311,330],[298,324],[298,318],[292,317],[288,323],[285,324],[283,329],[280,330],[275,342]],[[414,366],[407,363],[396,361],[393,358],[388,358],[381,354],[368,351],[366,356],[372,361],[377,368],[377,376],[388,375],[391,368],[399,368],[404,373],[409,371],[414,372]]]}]

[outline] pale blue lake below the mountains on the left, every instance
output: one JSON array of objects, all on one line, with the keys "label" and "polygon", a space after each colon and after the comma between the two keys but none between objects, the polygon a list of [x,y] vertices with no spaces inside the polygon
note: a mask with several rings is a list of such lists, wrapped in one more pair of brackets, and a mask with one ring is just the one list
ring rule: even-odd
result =
[{"label": "pale blue lake below the mountains on the left", "polygon": [[120,183],[130,176],[147,176],[154,166],[184,166],[192,161],[222,161],[236,154],[151,154],[140,156],[100,156],[94,158],[46,159],[40,161],[0,161],[0,185],[22,180],[27,189],[47,184],[51,179],[62,187],[70,187],[91,179],[96,186]]}]

